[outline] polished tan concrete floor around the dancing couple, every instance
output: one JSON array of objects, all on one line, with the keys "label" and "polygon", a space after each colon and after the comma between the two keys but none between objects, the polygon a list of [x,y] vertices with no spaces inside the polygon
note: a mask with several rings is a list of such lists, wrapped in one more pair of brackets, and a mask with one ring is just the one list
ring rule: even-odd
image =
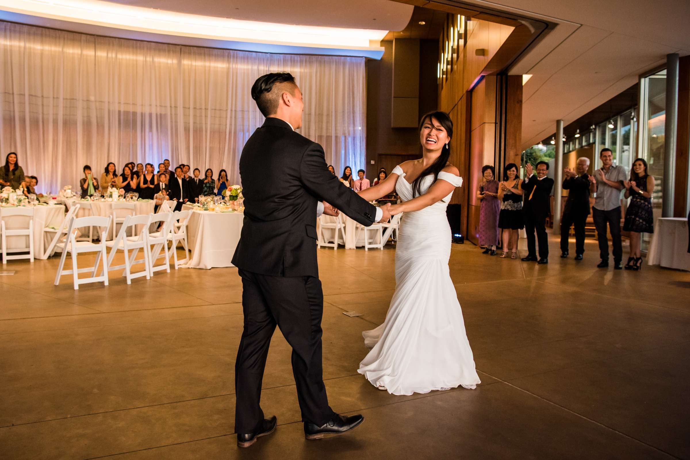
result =
[{"label": "polished tan concrete floor around the dancing couple", "polygon": [[[53,286],[57,259],[0,277],[0,459],[690,459],[690,274],[548,266],[453,246],[451,275],[482,384],[391,396],[357,374],[384,321],[394,250],[319,250],[324,380],[364,424],[305,441],[276,332],[262,407],[279,426],[234,432],[242,288],[235,268],[128,286]],[[627,248],[626,248],[627,249]],[[362,317],[347,317],[355,310]]]}]

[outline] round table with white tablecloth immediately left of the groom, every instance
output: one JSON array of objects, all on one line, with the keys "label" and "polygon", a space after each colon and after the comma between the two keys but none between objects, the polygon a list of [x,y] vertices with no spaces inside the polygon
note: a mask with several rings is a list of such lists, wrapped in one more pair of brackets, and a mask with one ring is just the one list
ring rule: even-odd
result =
[{"label": "round table with white tablecloth immediately left of the groom", "polygon": [[243,212],[192,210],[187,227],[187,239],[192,256],[187,268],[234,267],[232,260],[242,233]]}]

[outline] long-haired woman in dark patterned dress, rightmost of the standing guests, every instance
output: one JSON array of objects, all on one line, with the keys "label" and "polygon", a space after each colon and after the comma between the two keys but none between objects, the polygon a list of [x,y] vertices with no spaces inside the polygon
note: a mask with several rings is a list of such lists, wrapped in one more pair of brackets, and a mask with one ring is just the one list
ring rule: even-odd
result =
[{"label": "long-haired woman in dark patterned dress, rightmost of the standing guests", "polygon": [[624,182],[625,197],[630,198],[625,212],[623,231],[630,232],[630,257],[626,270],[642,268],[640,233],[654,232],[654,214],[651,209],[651,193],[654,191],[654,177],[647,174],[647,161],[641,158],[633,161],[630,180]]}]

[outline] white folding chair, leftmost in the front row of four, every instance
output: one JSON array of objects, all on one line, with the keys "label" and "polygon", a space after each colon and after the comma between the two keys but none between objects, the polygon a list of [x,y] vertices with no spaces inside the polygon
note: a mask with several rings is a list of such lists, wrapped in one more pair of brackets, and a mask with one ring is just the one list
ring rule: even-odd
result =
[{"label": "white folding chair, leftmost in the front row of four", "polygon": [[[55,275],[55,286],[59,285],[60,277],[63,274],[72,274],[72,278],[74,279],[75,283],[75,290],[79,289],[80,284],[97,283],[100,281],[103,281],[103,286],[108,286],[108,254],[106,253],[106,232],[108,232],[108,229],[110,228],[110,221],[112,221],[112,216],[70,218],[67,228],[67,238],[65,241],[59,242],[55,245],[62,250],[60,263],[57,266],[57,274]],[[98,227],[103,229],[101,232],[101,239],[97,244],[93,243],[92,241],[77,241],[77,238],[75,237],[75,230],[77,230],[77,228],[86,227]],[[68,252],[72,256],[72,270],[63,270]],[[94,263],[91,268],[78,268],[77,254],[81,254],[83,252],[97,252],[96,263]],[[101,272],[101,276],[97,277],[96,272],[98,271],[98,264],[101,259],[103,259],[103,271]],[[91,276],[88,278],[79,279],[79,273],[84,272],[91,272]]]}]

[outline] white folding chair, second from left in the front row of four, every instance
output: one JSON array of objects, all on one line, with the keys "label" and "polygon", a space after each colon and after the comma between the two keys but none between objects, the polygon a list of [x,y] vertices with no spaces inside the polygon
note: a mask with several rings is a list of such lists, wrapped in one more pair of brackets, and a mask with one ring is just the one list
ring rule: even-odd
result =
[{"label": "white folding chair, second from left in the front row of four", "polygon": [[[117,237],[113,241],[106,241],[106,246],[110,249],[108,254],[108,270],[125,269],[124,276],[127,277],[127,284],[132,283],[132,278],[146,277],[150,279],[150,268],[148,263],[148,225],[151,222],[151,214],[144,214],[141,216],[127,216],[120,228]],[[141,231],[137,234],[137,226],[141,226]],[[132,236],[127,236],[128,228],[132,228]],[[135,260],[139,250],[144,251],[144,259]],[[112,259],[115,258],[117,250],[124,251],[125,264],[119,266],[112,265]],[[132,255],[129,252],[132,251]],[[132,273],[132,266],[137,263],[144,263],[144,271]]]}]

